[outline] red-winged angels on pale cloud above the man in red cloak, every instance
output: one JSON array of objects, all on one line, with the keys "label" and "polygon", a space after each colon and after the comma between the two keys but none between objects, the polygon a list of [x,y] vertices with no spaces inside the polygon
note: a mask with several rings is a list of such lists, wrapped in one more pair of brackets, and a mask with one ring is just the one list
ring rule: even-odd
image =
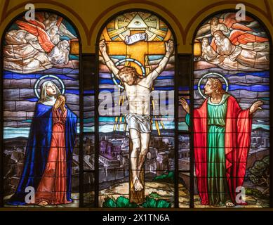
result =
[{"label": "red-winged angels on pale cloud above the man in red cloak", "polygon": [[[269,42],[262,32],[256,32],[256,21],[246,17],[244,24],[235,13],[212,18],[197,32],[201,39],[201,58],[226,70],[267,70]],[[245,25],[246,24],[246,25]]]}]

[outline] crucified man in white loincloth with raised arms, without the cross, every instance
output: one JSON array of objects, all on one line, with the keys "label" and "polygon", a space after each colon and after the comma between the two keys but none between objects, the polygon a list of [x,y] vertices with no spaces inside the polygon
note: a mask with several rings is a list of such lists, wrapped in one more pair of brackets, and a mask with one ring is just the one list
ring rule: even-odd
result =
[{"label": "crucified man in white loincloth with raised arms, without the cross", "polygon": [[[131,170],[135,191],[141,191],[143,184],[140,181],[140,171],[149,150],[151,132],[150,95],[153,82],[164,71],[169,58],[173,53],[173,41],[166,42],[166,54],[159,62],[159,66],[142,77],[133,67],[125,66],[121,70],[116,68],[114,62],[107,54],[105,40],[100,41],[99,47],[107,68],[124,84],[129,104],[129,113],[126,115],[126,123],[133,143],[131,150]],[[136,49],[136,51],[138,51]]]}]

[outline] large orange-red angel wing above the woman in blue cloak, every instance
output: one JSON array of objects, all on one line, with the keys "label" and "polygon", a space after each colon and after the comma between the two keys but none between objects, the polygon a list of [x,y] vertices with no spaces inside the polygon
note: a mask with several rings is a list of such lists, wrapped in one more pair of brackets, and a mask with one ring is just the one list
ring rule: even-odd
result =
[{"label": "large orange-red angel wing above the woman in blue cloak", "polygon": [[50,52],[55,46],[51,42],[51,39],[46,33],[46,31],[43,30],[41,27],[20,20],[17,20],[16,23],[18,27],[20,27],[20,29],[26,30],[30,34],[36,36],[39,41],[39,44],[41,45],[41,48],[44,49],[46,53]]}]

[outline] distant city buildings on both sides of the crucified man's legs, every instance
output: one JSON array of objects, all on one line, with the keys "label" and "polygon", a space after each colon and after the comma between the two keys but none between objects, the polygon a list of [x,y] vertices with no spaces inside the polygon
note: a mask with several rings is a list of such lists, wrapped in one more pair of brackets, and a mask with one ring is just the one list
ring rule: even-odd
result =
[{"label": "distant city buildings on both sides of the crucified man's legs", "polygon": [[[115,169],[120,170],[120,168],[124,168],[124,170],[128,170],[130,162],[129,139],[112,138],[107,140],[107,138],[109,138],[109,136],[103,136],[99,145],[100,173],[102,173],[102,170],[105,171],[102,174],[102,177],[105,177],[105,181],[109,181],[107,177],[112,178],[114,176],[112,173],[115,173]],[[173,145],[173,137],[152,136],[145,160],[146,174],[151,173],[155,176],[174,170]],[[107,173],[105,168],[107,169]],[[112,173],[110,171],[112,171]],[[124,173],[124,175],[126,174],[127,173]]]}]

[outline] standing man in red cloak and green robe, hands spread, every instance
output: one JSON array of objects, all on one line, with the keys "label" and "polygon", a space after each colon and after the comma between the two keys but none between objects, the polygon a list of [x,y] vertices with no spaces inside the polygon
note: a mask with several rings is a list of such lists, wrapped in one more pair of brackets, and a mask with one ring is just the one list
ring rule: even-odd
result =
[{"label": "standing man in red cloak and green robe, hands spread", "polygon": [[[246,160],[251,144],[252,115],[262,101],[242,110],[236,99],[222,89],[220,79],[209,78],[208,96],[194,109],[194,165],[202,205],[246,205],[237,202],[237,187],[244,184]],[[187,112],[189,105],[180,99]]]}]

